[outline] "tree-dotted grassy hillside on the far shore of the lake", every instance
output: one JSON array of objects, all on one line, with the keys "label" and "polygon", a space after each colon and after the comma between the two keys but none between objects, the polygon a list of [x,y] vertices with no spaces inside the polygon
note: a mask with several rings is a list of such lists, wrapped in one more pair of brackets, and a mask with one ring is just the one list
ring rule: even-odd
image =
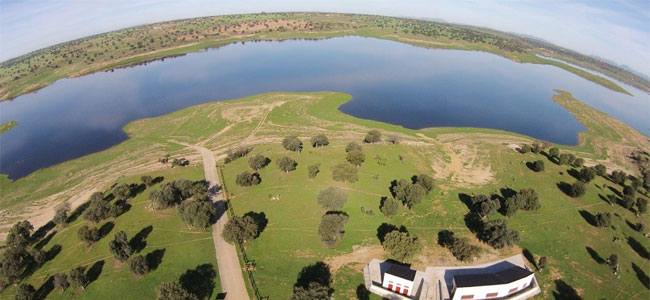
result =
[{"label": "tree-dotted grassy hillside on the far shore of the lake", "polygon": [[[486,51],[517,62],[554,65],[614,91],[629,94],[606,78],[535,55],[557,46],[537,45],[533,40],[503,32],[383,16],[262,13],[155,23],[38,50],[0,64],[0,100],[13,99],[38,90],[61,78],[183,55],[233,42],[320,39],[346,35],[390,39],[428,48]],[[573,62],[587,57],[563,50],[558,52],[563,54],[555,53],[553,56]],[[606,72],[643,90],[650,90],[647,80],[618,67],[597,61],[578,63],[583,67]]]}]

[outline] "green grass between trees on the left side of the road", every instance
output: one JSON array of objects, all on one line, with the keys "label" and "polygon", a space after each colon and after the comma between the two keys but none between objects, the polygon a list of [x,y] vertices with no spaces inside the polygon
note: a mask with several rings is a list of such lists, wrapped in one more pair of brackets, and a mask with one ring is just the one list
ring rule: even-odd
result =
[{"label": "green grass between trees on the left side of the road", "polygon": [[[198,165],[166,169],[147,175],[163,176],[163,182],[175,179],[200,180],[203,179],[203,167]],[[124,177],[118,182],[139,182],[139,176]],[[47,299],[154,299],[160,283],[177,281],[181,275],[200,265],[210,264],[216,272],[217,263],[211,231],[187,229],[174,208],[155,212],[146,208],[149,192],[159,185],[160,183],[129,200],[132,206],[128,212],[115,219],[100,222],[97,227],[107,226],[106,228],[112,229],[89,248],[77,237],[78,228],[88,224],[81,217],[65,228],[50,231],[44,242],[37,245],[44,251],[57,247],[60,251],[25,281],[37,289],[47,291],[50,276],[58,272],[68,272],[76,266],[84,266],[93,278],[85,291],[69,288],[61,293],[59,290],[53,290],[46,292]],[[113,257],[109,252],[108,242],[120,230],[124,230],[129,238],[141,234],[144,247],[139,249],[138,254],[159,257],[160,263],[155,270],[144,276],[135,276],[129,271],[128,264]],[[220,292],[218,275],[213,280],[215,285],[212,297]],[[12,294],[13,288],[8,288],[0,293],[0,299],[14,299]]]}]

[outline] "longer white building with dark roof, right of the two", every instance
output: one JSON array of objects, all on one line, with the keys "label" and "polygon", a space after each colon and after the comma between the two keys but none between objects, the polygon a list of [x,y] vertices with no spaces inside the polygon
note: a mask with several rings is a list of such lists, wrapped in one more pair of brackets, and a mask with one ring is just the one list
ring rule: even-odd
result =
[{"label": "longer white building with dark roof, right of the two", "polygon": [[494,273],[455,275],[452,300],[511,297],[535,285],[535,273],[512,266]]}]

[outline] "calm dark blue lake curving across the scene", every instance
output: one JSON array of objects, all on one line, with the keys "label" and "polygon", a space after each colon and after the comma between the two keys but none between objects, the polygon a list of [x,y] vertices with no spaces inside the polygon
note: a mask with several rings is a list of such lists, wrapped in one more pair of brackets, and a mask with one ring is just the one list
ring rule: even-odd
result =
[{"label": "calm dark blue lake curving across the scene", "polygon": [[341,91],[341,111],[408,128],[503,129],[573,145],[585,130],[561,106],[564,89],[648,134],[650,97],[610,91],[552,66],[488,53],[343,37],[232,44],[144,66],[62,79],[0,103],[0,172],[12,179],[127,138],[122,126],[209,101],[270,91]]}]

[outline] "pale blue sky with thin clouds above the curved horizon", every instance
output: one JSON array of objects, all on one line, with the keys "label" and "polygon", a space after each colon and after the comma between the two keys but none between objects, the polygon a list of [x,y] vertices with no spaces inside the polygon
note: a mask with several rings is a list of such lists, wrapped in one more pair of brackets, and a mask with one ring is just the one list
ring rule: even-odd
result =
[{"label": "pale blue sky with thin clouds above the curved horizon", "polygon": [[533,35],[650,75],[649,0],[0,0],[0,61],[134,25],[261,11],[439,18]]}]

